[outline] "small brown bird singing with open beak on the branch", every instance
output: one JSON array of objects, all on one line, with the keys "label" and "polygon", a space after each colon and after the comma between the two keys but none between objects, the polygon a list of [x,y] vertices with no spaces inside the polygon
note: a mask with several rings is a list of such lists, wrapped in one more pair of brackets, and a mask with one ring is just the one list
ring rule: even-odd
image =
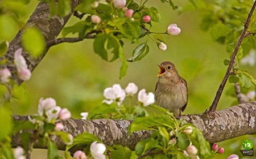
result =
[{"label": "small brown bird singing with open beak on the branch", "polygon": [[158,106],[181,117],[188,102],[187,82],[178,74],[173,63],[162,62],[159,66],[158,82],[155,85],[155,101]]}]

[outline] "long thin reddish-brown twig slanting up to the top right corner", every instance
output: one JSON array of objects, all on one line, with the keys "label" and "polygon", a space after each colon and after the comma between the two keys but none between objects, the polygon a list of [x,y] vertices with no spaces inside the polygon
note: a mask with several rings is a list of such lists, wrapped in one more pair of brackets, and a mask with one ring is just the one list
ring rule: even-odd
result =
[{"label": "long thin reddish-brown twig slanting up to the top right corner", "polygon": [[234,59],[236,58],[236,55],[237,55],[237,51],[238,51],[238,49],[239,49],[239,47],[241,45],[241,42],[242,42],[243,38],[246,36],[246,31],[247,31],[247,29],[249,27],[249,23],[250,23],[250,20],[251,20],[251,16],[253,15],[253,11],[255,9],[255,6],[256,6],[256,1],[253,3],[253,7],[251,7],[251,10],[250,10],[250,12],[248,14],[247,20],[245,22],[245,27],[243,28],[241,36],[240,36],[240,38],[237,41],[236,48],[234,49],[232,57],[230,58],[230,63],[229,63],[228,69],[226,70],[226,74],[225,74],[225,76],[224,76],[224,78],[223,78],[223,80],[222,80],[222,82],[220,84],[220,87],[218,87],[218,91],[216,93],[216,96],[215,96],[215,98],[213,100],[212,105],[210,106],[209,113],[213,113],[216,110],[216,108],[217,108],[218,101],[220,100],[220,97],[221,97],[222,91],[223,91],[223,89],[225,87],[226,81],[229,78],[230,71],[231,71],[233,63],[234,63]]}]

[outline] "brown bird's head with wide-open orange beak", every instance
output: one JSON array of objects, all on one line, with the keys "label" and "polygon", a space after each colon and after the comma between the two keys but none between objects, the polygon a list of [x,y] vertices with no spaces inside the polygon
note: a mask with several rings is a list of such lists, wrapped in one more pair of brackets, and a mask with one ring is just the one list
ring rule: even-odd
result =
[{"label": "brown bird's head with wide-open orange beak", "polygon": [[174,63],[169,61],[162,62],[159,66],[159,73],[156,77],[163,76],[164,78],[174,78],[177,75],[177,70]]}]

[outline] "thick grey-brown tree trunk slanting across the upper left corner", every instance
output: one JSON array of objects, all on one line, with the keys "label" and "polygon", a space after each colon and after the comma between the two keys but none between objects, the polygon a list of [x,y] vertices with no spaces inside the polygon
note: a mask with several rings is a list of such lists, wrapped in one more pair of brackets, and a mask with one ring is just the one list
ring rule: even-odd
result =
[{"label": "thick grey-brown tree trunk slanting across the upper left corner", "polygon": [[[16,81],[16,83],[20,84],[22,83],[22,81],[19,80],[18,76],[16,75],[16,67],[14,65],[14,52],[17,49],[22,48],[21,35],[24,29],[26,29],[27,27],[36,27],[40,30],[40,32],[42,33],[46,41],[54,40],[61,32],[64,25],[68,22],[68,19],[71,17],[74,8],[77,5],[79,5],[79,3],[80,3],[80,0],[72,0],[71,1],[72,11],[69,13],[68,16],[65,16],[64,18],[60,18],[57,15],[54,16],[53,18],[49,18],[49,6],[46,3],[42,3],[42,2],[39,3],[39,5],[36,7],[33,14],[30,16],[30,19],[28,20],[28,22],[14,37],[13,41],[10,42],[10,46],[4,58],[1,58],[1,59],[7,59],[6,66],[2,66],[2,67],[7,67],[11,70],[12,79]],[[35,67],[38,66],[40,61],[42,61],[48,49],[49,47],[47,47],[42,53],[42,55],[40,55],[40,57],[38,58],[32,57],[30,54],[25,53],[23,51],[23,56],[25,57],[28,68],[31,71],[33,71]]]}]

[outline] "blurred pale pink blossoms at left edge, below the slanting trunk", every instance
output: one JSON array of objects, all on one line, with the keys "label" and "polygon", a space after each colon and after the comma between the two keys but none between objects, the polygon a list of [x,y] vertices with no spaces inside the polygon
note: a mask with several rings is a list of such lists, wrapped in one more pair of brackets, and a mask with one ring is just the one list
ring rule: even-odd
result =
[{"label": "blurred pale pink blossoms at left edge, below the slanting trunk", "polygon": [[[31,77],[31,71],[28,69],[26,60],[22,55],[22,48],[19,48],[14,53],[14,63],[18,71],[18,77],[21,80],[29,80]],[[9,83],[9,78],[11,77],[11,72],[8,68],[3,68],[0,70],[1,83]]]}]

